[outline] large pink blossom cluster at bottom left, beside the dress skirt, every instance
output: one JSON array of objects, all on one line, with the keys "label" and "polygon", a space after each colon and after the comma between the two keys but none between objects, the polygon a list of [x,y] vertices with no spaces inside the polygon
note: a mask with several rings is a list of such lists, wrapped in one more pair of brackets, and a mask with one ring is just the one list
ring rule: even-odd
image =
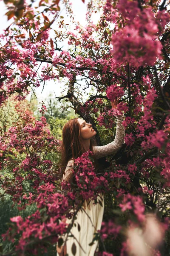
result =
[{"label": "large pink blossom cluster at bottom left, beside the dress skirt", "polygon": [[[49,236],[51,242],[54,243],[60,235],[66,232],[67,224],[63,215],[70,208],[68,199],[64,195],[56,193],[55,190],[55,186],[46,183],[38,187],[37,195],[30,193],[28,197],[23,196],[26,201],[29,201],[29,204],[37,204],[37,211],[25,219],[21,216],[11,218],[17,233],[20,234],[16,250],[24,250],[34,238],[43,240],[44,237]],[[3,239],[14,241],[15,235],[16,233],[9,228],[8,232],[3,235]]]}]

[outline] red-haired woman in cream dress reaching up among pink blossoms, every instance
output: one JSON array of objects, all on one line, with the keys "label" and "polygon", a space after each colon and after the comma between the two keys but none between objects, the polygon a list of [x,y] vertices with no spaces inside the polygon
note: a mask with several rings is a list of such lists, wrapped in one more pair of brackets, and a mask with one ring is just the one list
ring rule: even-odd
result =
[{"label": "red-haired woman in cream dress reaching up among pink blossoms", "polygon": [[[117,108],[119,98],[111,103],[112,108]],[[74,118],[68,121],[62,130],[62,166],[65,168],[63,181],[72,182],[74,159],[80,157],[83,152],[89,149],[93,151],[94,157],[99,159],[113,154],[122,147],[124,143],[125,128],[122,126],[124,115],[117,115],[116,117],[116,136],[112,143],[104,146],[93,146],[92,139],[96,135],[96,131],[92,128],[91,124],[85,122],[80,118]],[[77,220],[75,225],[71,228],[72,237],[68,237],[64,247],[57,247],[59,256],[68,253],[68,256],[94,256],[95,250],[98,246],[98,241],[94,241],[89,245],[94,237],[94,233],[101,229],[102,217],[104,211],[103,195],[99,195],[102,204],[93,204],[93,201],[87,204],[85,201],[83,210],[77,213]],[[67,221],[68,224],[71,220]],[[78,224],[80,230],[78,230]],[[74,244],[74,245],[73,245]],[[76,245],[76,254],[72,253],[73,247]]]}]

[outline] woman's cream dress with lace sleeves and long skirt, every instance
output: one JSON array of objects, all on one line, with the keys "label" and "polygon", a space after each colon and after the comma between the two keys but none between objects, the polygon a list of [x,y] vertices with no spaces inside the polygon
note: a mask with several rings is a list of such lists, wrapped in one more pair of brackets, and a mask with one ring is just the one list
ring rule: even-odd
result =
[{"label": "woman's cream dress with lace sleeves and long skirt", "polygon": [[[116,119],[116,136],[114,141],[104,146],[93,147],[93,152],[97,159],[119,151],[124,143],[125,128],[122,126],[124,115]],[[62,180],[71,182],[73,166],[74,160],[68,161]],[[94,233],[97,233],[97,230],[101,229],[104,211],[103,195],[99,194],[97,199],[102,202],[102,206],[100,204],[94,204],[94,201],[90,201],[87,206],[87,202],[85,201],[85,207],[82,207],[82,210],[80,209],[77,213],[77,220],[74,222],[75,225],[73,225],[71,229],[71,233],[74,237],[68,237],[66,241],[68,256],[74,255],[71,250],[73,244],[76,245],[76,256],[94,256],[94,252],[98,247],[98,241],[95,241],[91,246],[89,244],[94,238]],[[68,224],[70,222],[71,220],[67,221]],[[78,224],[80,230],[78,230]],[[79,244],[81,244],[81,247]]]}]

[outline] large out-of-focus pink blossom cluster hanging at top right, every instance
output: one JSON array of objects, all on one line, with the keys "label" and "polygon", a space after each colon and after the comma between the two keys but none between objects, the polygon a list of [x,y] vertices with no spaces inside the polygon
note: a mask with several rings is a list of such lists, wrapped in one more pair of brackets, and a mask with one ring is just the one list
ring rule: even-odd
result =
[{"label": "large out-of-focus pink blossom cluster hanging at top right", "polygon": [[152,8],[141,9],[136,0],[119,0],[117,8],[126,25],[112,36],[111,53],[115,61],[136,67],[154,65],[157,58],[161,59],[162,45],[157,33],[160,27],[164,27],[167,14],[161,13],[163,22],[158,26],[161,20],[155,17]]}]

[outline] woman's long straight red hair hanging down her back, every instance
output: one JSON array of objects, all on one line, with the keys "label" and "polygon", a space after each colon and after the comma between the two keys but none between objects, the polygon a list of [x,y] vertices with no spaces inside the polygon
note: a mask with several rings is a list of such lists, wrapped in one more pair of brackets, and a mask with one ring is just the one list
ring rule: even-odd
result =
[{"label": "woman's long straight red hair hanging down her back", "polygon": [[[80,157],[85,152],[80,130],[78,118],[69,120],[62,128],[62,168],[67,166],[69,160]],[[93,151],[95,144],[95,138],[93,137],[90,141],[91,151]]]}]

